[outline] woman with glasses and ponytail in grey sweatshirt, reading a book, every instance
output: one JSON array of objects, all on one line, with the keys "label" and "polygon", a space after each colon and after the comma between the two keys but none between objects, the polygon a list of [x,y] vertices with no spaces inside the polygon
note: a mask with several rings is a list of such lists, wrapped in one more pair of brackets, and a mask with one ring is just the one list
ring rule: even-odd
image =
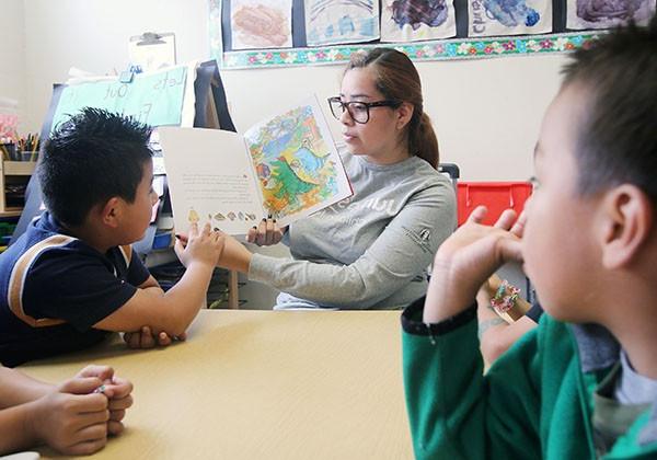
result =
[{"label": "woman with glasses and ponytail in grey sweatshirt, reading a book", "polygon": [[427,267],[457,219],[419,74],[394,49],[356,54],[328,104],[354,195],[287,229],[263,220],[247,235],[260,245],[283,239],[291,258],[252,254],[227,235],[219,264],[279,289],[276,309],[400,308],[425,295]]}]

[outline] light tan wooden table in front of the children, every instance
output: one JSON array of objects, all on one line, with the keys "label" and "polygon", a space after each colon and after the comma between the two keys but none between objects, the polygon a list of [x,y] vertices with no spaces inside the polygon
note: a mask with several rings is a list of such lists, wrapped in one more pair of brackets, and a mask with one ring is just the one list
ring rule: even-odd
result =
[{"label": "light tan wooden table in front of the children", "polygon": [[126,432],[97,458],[411,459],[399,317],[203,310],[186,343],[115,337],[21,369],[58,382],[107,364],[135,383]]}]

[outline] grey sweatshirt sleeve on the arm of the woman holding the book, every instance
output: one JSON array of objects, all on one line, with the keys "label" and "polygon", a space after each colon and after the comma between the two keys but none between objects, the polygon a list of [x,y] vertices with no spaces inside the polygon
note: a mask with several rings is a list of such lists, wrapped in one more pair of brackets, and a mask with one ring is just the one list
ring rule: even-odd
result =
[{"label": "grey sweatshirt sleeve on the arm of the woman holding the book", "polygon": [[254,254],[249,278],[324,306],[367,309],[406,287],[456,228],[450,184],[412,196],[374,243],[349,265]]}]

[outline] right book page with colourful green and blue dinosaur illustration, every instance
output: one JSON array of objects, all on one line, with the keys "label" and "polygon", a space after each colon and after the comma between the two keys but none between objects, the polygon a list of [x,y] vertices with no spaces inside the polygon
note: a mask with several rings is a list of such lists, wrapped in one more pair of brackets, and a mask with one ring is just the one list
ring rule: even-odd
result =
[{"label": "right book page with colourful green and blue dinosaur illustration", "polygon": [[279,226],[351,196],[315,97],[251,127],[246,148],[267,215]]}]

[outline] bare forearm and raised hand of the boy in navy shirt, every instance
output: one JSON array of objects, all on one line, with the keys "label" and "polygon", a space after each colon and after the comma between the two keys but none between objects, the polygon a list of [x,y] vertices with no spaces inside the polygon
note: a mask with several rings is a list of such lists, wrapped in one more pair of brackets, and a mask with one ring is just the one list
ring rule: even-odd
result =
[{"label": "bare forearm and raised hand of the boy in navy shirt", "polygon": [[180,252],[185,274],[174,287],[137,289],[114,313],[94,324],[95,329],[117,332],[140,331],[149,325],[155,335],[182,335],[204,306],[212,271],[223,250],[224,237],[210,231],[209,223],[198,230],[193,225],[189,241]]}]

